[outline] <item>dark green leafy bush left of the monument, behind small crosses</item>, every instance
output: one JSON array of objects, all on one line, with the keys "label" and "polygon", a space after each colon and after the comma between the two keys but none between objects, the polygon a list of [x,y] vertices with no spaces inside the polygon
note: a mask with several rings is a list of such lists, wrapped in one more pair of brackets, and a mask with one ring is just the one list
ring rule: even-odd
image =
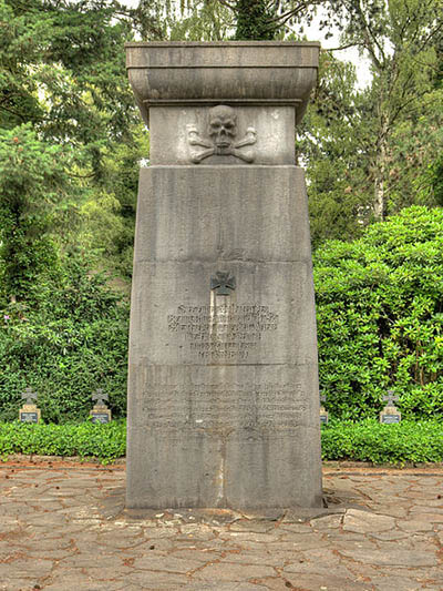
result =
[{"label": "dark green leafy bush left of the monument, behind small crosses", "polygon": [[68,257],[56,281],[42,276],[0,314],[0,420],[17,419],[25,386],[47,422],[85,420],[99,387],[113,416],[125,415],[128,305],[104,276]]}]

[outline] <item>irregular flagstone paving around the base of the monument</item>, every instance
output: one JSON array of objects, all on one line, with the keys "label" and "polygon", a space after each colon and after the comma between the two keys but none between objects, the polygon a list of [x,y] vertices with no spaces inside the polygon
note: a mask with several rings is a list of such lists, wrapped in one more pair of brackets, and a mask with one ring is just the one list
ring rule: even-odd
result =
[{"label": "irregular flagstone paving around the base of the monument", "polygon": [[[336,513],[122,513],[124,466],[0,467],[0,590],[443,589],[443,469],[326,467]],[[344,506],[340,505],[344,501]]]}]

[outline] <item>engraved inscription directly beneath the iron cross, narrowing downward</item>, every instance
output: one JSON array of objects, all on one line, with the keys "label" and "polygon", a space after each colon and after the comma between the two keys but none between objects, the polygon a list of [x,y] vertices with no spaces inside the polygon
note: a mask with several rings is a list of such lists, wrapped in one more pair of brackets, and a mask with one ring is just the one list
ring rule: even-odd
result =
[{"label": "engraved inscription directly beneath the iron cross, narrowing downward", "polygon": [[264,334],[277,330],[278,314],[259,305],[179,305],[167,327],[199,360],[247,359]]}]

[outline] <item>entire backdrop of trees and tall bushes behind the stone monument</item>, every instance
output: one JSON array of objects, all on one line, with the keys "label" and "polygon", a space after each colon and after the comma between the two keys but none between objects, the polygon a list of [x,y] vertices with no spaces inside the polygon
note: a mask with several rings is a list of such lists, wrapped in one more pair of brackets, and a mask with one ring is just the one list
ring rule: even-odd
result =
[{"label": "entire backdrop of trees and tall bushes behind the stone monument", "polygon": [[97,273],[127,293],[148,156],[124,42],[300,39],[318,6],[373,74],[361,89],[323,52],[297,141],[321,387],[337,417],[373,417],[394,389],[404,417],[442,418],[440,0],[0,0],[1,420],[25,386],[47,421],[85,419],[97,387],[125,412],[128,307]]}]

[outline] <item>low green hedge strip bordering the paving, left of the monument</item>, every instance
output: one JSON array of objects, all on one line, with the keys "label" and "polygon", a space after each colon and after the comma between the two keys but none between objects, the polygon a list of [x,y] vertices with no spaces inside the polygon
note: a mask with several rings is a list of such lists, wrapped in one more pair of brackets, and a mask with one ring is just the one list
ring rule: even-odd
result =
[{"label": "low green hedge strip bordering the paving, left of the monument", "polygon": [[91,421],[80,425],[0,424],[0,456],[27,454],[39,456],[95,457],[109,462],[126,451],[126,422],[107,425]]}]

